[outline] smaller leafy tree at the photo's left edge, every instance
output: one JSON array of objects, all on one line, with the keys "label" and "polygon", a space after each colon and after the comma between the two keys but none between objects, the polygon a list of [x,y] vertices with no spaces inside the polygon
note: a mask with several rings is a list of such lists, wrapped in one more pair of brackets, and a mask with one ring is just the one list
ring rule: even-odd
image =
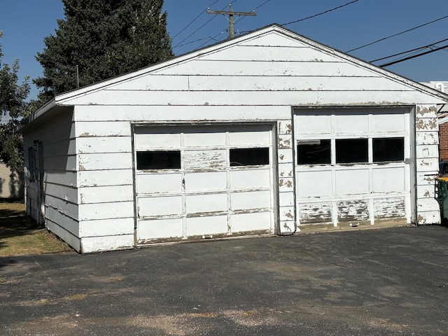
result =
[{"label": "smaller leafy tree at the photo's left edge", "polygon": [[[3,33],[0,31],[0,38]],[[29,94],[28,78],[19,83],[19,61],[12,66],[3,64],[0,44],[0,159],[13,172],[23,173],[22,137],[14,134],[14,127],[23,117],[29,116],[29,104],[25,102]]]}]

